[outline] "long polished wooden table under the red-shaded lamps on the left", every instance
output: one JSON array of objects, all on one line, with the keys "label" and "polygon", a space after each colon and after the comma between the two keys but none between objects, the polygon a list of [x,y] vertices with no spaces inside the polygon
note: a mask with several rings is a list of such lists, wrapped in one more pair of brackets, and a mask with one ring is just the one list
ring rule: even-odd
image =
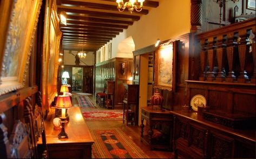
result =
[{"label": "long polished wooden table under the red-shaded lamps on the left", "polygon": [[[55,109],[51,108],[45,121],[45,135],[49,158],[91,158],[91,146],[94,143],[89,128],[83,119],[79,107],[68,109],[69,122],[65,125],[65,133],[69,138],[58,139],[61,130],[54,130],[52,120]],[[40,139],[38,145],[42,144]]]}]

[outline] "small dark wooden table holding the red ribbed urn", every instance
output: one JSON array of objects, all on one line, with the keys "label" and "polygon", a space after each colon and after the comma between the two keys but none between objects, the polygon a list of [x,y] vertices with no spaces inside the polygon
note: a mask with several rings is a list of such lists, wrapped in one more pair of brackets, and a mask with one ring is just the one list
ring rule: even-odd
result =
[{"label": "small dark wooden table holding the red ribbed urn", "polygon": [[[144,135],[144,120],[149,129]],[[152,107],[141,108],[141,142],[149,144],[150,149],[172,150],[173,117],[169,111],[153,110]]]}]

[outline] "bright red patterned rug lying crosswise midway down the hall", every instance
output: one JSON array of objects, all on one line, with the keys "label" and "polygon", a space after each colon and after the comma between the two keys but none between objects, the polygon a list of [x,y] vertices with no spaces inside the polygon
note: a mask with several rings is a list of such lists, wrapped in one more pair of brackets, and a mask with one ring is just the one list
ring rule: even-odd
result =
[{"label": "bright red patterned rug lying crosswise midway down the hall", "polygon": [[82,114],[86,121],[123,120],[123,110],[86,110]]}]

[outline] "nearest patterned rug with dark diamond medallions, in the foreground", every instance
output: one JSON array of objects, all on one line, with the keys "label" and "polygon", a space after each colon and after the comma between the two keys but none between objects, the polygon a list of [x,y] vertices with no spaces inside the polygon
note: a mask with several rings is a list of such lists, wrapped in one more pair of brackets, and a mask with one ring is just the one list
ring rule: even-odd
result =
[{"label": "nearest patterned rug with dark diamond medallions, in the foreground", "polygon": [[149,158],[132,139],[119,128],[90,129],[94,139],[95,158]]}]

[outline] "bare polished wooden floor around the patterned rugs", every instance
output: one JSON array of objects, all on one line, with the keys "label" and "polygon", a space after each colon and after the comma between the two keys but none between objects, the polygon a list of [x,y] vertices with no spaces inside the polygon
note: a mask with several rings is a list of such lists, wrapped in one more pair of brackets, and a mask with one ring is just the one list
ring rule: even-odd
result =
[{"label": "bare polished wooden floor around the patterned rugs", "polygon": [[[93,96],[90,99],[95,103]],[[76,101],[73,100],[75,103]],[[104,109],[104,108],[102,108]],[[120,128],[139,146],[150,158],[174,158],[174,154],[167,150],[150,150],[150,147],[140,141],[140,126],[126,126],[123,121],[87,121],[89,128]]]}]

